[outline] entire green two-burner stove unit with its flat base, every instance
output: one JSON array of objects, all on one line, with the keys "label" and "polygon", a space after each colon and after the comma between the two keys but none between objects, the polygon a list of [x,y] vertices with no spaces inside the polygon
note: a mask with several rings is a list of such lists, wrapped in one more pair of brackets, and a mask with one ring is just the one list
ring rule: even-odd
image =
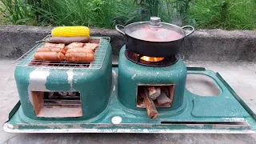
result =
[{"label": "entire green two-burner stove unit with its flat base", "polygon": [[126,46],[114,65],[110,38],[90,41],[100,45],[94,62],[35,61],[42,44],[14,62],[20,101],[6,132],[256,132],[256,115],[220,74],[186,67],[178,55],[146,58]]}]

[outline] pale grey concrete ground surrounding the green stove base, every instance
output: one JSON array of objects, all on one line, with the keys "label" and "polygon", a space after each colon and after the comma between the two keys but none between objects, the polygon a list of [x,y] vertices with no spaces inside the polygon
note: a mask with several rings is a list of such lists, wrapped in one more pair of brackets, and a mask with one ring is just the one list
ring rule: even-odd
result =
[{"label": "pale grey concrete ground surrounding the green stove base", "polygon": [[[18,102],[13,60],[0,60],[0,123]],[[204,66],[222,77],[256,111],[256,64],[254,62],[186,62]],[[8,134],[0,128],[0,143],[256,143],[256,134]]]}]

